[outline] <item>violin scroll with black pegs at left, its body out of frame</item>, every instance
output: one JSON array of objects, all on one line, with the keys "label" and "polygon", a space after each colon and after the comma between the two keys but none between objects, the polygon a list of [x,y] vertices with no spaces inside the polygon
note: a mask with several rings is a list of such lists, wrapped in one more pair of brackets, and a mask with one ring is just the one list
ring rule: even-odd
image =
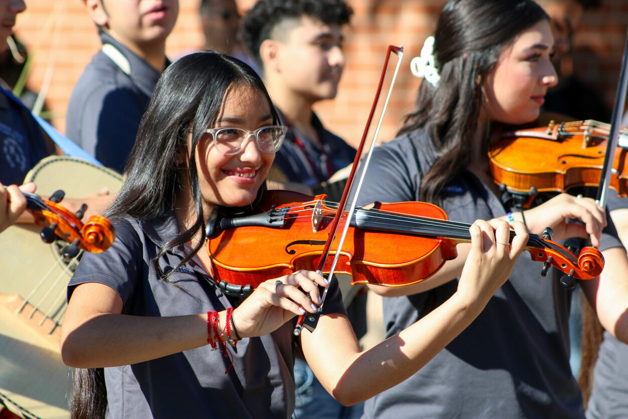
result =
[{"label": "violin scroll with black pegs at left, its body out of frame", "polygon": [[43,227],[41,239],[51,243],[57,239],[68,242],[62,249],[65,258],[75,258],[80,250],[100,253],[106,251],[116,239],[116,229],[111,221],[101,215],[92,215],[87,222],[81,219],[87,210],[83,204],[73,214],[58,203],[63,199],[62,190],[53,193],[50,200],[41,199],[35,193],[24,193],[26,209],[35,217],[35,224]]}]

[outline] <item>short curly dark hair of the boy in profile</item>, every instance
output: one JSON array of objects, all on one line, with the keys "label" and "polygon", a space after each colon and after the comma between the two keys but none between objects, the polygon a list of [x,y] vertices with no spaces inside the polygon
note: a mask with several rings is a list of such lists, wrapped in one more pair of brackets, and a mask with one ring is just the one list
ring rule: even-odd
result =
[{"label": "short curly dark hair of the boy in profile", "polygon": [[344,0],[259,0],[242,19],[240,37],[261,67],[259,47],[284,20],[308,16],[325,24],[343,25],[349,23],[352,14]]}]

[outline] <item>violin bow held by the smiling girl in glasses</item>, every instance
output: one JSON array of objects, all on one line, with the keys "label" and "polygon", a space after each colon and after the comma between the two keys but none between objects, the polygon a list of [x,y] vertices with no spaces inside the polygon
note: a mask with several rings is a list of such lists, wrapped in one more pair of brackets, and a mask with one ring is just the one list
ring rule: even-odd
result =
[{"label": "violin bow held by the smiling girl in glasses", "polygon": [[[358,195],[360,193],[360,189],[362,188],[362,182],[364,181],[364,175],[366,173],[366,169],[369,166],[369,161],[371,161],[371,155],[373,153],[373,150],[375,148],[375,144],[377,141],[377,135],[379,134],[379,129],[381,128],[382,125],[382,121],[384,120],[384,114],[386,113],[386,108],[388,106],[388,102],[390,100],[391,94],[393,92],[393,86],[395,83],[395,80],[397,79],[397,73],[399,72],[399,67],[401,67],[401,58],[403,58],[403,46],[394,46],[394,45],[389,45],[388,46],[388,50],[386,52],[386,61],[384,61],[384,69],[382,70],[382,75],[379,78],[379,85],[377,86],[377,92],[375,95],[375,99],[373,101],[373,104],[371,106],[371,112],[369,113],[369,119],[367,119],[366,122],[366,126],[364,127],[364,133],[362,134],[362,139],[360,140],[360,145],[357,148],[357,152],[355,153],[355,160],[354,163],[351,167],[351,173],[349,173],[349,177],[347,178],[347,185],[345,186],[345,190],[342,193],[342,198],[340,199],[340,203],[338,204],[338,210],[336,212],[336,215],[333,217],[333,222],[332,222],[332,226],[330,227],[330,233],[329,236],[327,237],[327,241],[325,242],[325,247],[323,248],[323,253],[321,255],[321,258],[318,262],[318,267],[317,267],[317,273],[321,274],[323,273],[323,269],[325,268],[325,263],[327,263],[327,257],[329,256],[329,252],[332,248],[332,242],[335,239],[336,236],[336,232],[338,230],[338,225],[340,224],[340,219],[342,217],[342,213],[345,207],[345,204],[347,203],[347,198],[349,197],[349,192],[352,189],[352,185],[354,182],[354,178],[355,178],[355,172],[357,170],[358,165],[360,164],[360,158],[362,157],[362,150],[364,148],[364,143],[366,142],[366,137],[367,134],[369,133],[369,129],[371,128],[371,121],[373,119],[373,115],[375,113],[375,109],[377,107],[377,102],[379,101],[379,95],[381,94],[382,91],[382,86],[384,85],[384,77],[386,77],[386,69],[388,68],[388,61],[389,58],[391,57],[391,53],[394,53],[395,55],[397,55],[399,57],[399,60],[397,62],[397,67],[395,68],[394,74],[393,74],[393,79],[391,80],[391,84],[390,87],[388,89],[388,94],[386,96],[386,101],[384,101],[384,106],[382,107],[382,112],[381,115],[379,117],[379,122],[377,122],[377,128],[375,130],[375,133],[373,135],[373,139],[371,141],[371,147],[369,148],[369,152],[367,154],[367,156],[364,159],[364,167],[362,169],[362,175],[360,176],[360,180],[357,183],[357,187],[355,188],[355,192],[354,192],[354,196],[353,199],[351,201],[351,205],[349,210],[347,211],[347,219],[345,220],[345,224],[344,227],[342,229],[342,234],[340,235],[340,240],[338,241],[338,247],[336,249],[336,253],[334,255],[333,261],[332,261],[332,266],[330,268],[330,271],[327,275],[327,278],[329,278],[329,281],[332,280],[333,278],[333,273],[335,271],[336,268],[336,264],[338,262],[338,258],[340,258],[340,251],[342,249],[342,244],[344,244],[345,241],[345,236],[347,236],[347,231],[349,229],[349,224],[351,222],[351,217],[354,214],[355,211],[355,207],[357,205],[357,199],[358,199]],[[295,331],[294,331],[294,335],[298,336],[301,334],[301,330],[303,329],[303,327],[305,327],[305,329],[310,330],[310,332],[313,332],[313,330],[315,329],[316,325],[318,324],[318,318],[320,317],[320,313],[322,311],[323,308],[323,304],[325,303],[325,297],[327,297],[327,290],[329,289],[329,287],[325,288],[325,291],[323,291],[323,296],[322,296],[322,302],[320,303],[320,307],[318,309],[318,313],[315,314],[308,314],[307,316],[305,315],[300,315],[297,322],[296,322],[296,327],[295,327]]]}]

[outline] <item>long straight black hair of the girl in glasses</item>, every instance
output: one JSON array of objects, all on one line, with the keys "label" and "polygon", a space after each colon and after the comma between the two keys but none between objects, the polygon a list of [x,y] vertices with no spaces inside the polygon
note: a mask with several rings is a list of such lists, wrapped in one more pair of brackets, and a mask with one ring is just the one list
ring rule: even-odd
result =
[{"label": "long straight black hair of the girl in glasses", "polygon": [[[227,90],[239,85],[248,85],[261,92],[268,99],[274,123],[278,124],[279,116],[256,72],[236,58],[215,52],[190,54],[166,68],[142,117],[126,168],[126,179],[106,215],[112,218],[131,216],[153,219],[170,214],[181,190],[181,179],[190,180],[197,219],[190,229],[166,243],[157,254],[153,264],[162,280],[168,281],[169,273],[161,271],[157,259],[168,249],[200,234],[201,240],[178,268],[203,246],[206,217],[195,163],[196,146],[205,129],[214,123],[219,114]],[[190,129],[191,155],[187,175],[183,177],[181,170],[185,169],[179,167],[177,156],[180,156],[181,150],[186,150]],[[176,268],[170,272],[176,271]],[[107,393],[102,369],[75,369],[73,376],[71,417],[104,418]]]}]

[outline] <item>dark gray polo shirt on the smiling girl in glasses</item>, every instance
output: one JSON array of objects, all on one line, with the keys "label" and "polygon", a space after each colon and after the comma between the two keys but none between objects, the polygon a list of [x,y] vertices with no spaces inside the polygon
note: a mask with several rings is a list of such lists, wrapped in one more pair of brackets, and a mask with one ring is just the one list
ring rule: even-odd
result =
[{"label": "dark gray polo shirt on the smiling girl in glasses", "polygon": [[[197,258],[158,280],[152,260],[160,246],[178,234],[174,217],[124,219],[104,253],[85,253],[68,285],[98,282],[122,297],[122,313],[179,316],[224,310],[230,301]],[[204,251],[204,250],[203,250]],[[159,259],[170,271],[183,258],[181,249]],[[344,313],[333,285],[324,313]],[[180,286],[177,288],[176,286]],[[230,359],[207,345],[130,366],[105,368],[108,418],[288,418],[295,407],[292,331],[296,317],[272,334],[242,339]]]}]

